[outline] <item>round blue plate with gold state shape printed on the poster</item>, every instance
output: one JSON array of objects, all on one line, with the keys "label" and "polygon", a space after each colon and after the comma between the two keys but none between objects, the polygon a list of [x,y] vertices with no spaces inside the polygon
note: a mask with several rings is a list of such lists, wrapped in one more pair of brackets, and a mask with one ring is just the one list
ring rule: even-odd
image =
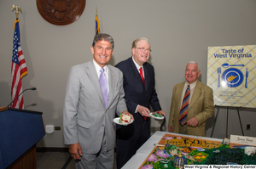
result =
[{"label": "round blue plate with gold state shape printed on the poster", "polygon": [[222,74],[222,80],[226,82],[228,87],[238,87],[243,81],[243,75],[241,73],[241,70],[238,70],[236,68],[230,68],[224,70]]}]

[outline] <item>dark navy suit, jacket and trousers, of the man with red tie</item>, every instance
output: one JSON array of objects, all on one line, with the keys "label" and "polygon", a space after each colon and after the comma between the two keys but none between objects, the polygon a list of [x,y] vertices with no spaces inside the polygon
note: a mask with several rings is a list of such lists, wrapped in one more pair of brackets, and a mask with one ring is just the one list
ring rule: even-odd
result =
[{"label": "dark navy suit, jacket and trousers, of the man with red tie", "polygon": [[161,110],[161,107],[154,89],[153,65],[147,62],[143,64],[145,87],[132,58],[119,62],[115,66],[123,72],[125,102],[128,111],[135,119],[128,126],[116,126],[116,161],[119,169],[150,138],[150,118],[145,121],[141,114],[135,113],[137,105],[143,105],[148,110],[150,110],[151,105],[154,111]]}]

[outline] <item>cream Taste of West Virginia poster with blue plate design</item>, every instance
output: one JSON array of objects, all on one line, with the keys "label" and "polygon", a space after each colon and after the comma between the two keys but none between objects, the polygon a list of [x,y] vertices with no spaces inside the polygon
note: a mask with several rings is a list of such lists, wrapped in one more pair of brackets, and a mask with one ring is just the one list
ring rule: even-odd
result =
[{"label": "cream Taste of West Virginia poster with blue plate design", "polygon": [[208,47],[214,104],[256,108],[256,45]]}]

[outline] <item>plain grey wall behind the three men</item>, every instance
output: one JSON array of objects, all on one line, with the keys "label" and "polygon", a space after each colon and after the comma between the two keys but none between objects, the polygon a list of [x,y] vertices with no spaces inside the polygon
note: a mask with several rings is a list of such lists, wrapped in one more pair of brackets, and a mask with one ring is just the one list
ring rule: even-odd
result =
[{"label": "plain grey wall behind the three men", "polygon": [[[152,46],[149,62],[154,65],[156,90],[162,109],[170,110],[172,87],[183,82],[188,61],[201,65],[201,82],[207,83],[207,47],[256,44],[255,0],[87,0],[84,13],[71,25],[52,25],[38,13],[36,1],[0,1],[0,106],[10,99],[10,66],[15,12],[22,8],[20,19],[21,47],[28,75],[22,80],[25,109],[42,111],[44,125],[60,126],[61,131],[47,134],[38,147],[64,147],[62,110],[67,75],[73,65],[92,59],[90,45],[95,31],[96,7],[101,32],[115,42],[111,65],[131,56],[131,42],[148,37]],[[225,138],[226,108],[221,108],[213,132]],[[241,123],[247,136],[256,137],[255,109],[241,108]],[[216,116],[216,112],[215,112]],[[167,115],[167,119],[168,119]],[[207,136],[212,132],[214,117],[207,121]],[[251,130],[246,130],[246,125]],[[167,128],[167,126],[166,126]],[[165,129],[166,129],[165,128]],[[160,122],[152,120],[152,132]],[[229,110],[230,134],[241,135],[235,108]]]}]

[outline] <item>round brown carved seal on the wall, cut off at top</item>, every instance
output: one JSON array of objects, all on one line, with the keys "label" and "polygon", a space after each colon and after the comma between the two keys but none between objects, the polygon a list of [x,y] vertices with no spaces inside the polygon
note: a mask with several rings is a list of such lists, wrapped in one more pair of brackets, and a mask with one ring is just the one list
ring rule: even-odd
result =
[{"label": "round brown carved seal on the wall, cut off at top", "polygon": [[84,12],[86,0],[37,0],[38,11],[44,20],[54,25],[68,25]]}]

